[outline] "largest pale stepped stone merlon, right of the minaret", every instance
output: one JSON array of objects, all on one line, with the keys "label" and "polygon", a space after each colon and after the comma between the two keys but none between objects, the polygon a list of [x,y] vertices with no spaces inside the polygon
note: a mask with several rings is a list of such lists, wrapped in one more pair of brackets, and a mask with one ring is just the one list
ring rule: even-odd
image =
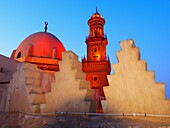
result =
[{"label": "largest pale stepped stone merlon, right of the minaret", "polygon": [[122,41],[120,46],[122,50],[116,52],[118,63],[112,65],[114,74],[108,75],[109,86],[104,88],[105,112],[170,114],[164,84],[155,82],[154,72],[140,60],[139,48],[133,40]]}]

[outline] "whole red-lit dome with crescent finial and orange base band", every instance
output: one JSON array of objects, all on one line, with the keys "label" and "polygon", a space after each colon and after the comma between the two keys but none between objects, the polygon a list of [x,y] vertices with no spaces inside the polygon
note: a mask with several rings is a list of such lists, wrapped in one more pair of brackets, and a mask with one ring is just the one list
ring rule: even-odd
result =
[{"label": "whole red-lit dome with crescent finial and orange base band", "polygon": [[59,71],[58,62],[62,60],[62,52],[66,50],[57,37],[47,32],[47,22],[45,25],[45,32],[28,36],[13,51],[11,58],[36,64],[42,70]]}]

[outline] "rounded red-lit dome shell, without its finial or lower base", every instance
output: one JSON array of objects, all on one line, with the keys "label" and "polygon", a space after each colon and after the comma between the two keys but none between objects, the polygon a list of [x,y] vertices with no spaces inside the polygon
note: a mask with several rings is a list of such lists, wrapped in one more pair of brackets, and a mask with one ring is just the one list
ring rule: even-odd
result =
[{"label": "rounded red-lit dome shell, without its finial or lower base", "polygon": [[65,48],[61,41],[48,32],[37,32],[21,42],[15,51],[14,59],[20,57],[40,57],[62,59]]}]

